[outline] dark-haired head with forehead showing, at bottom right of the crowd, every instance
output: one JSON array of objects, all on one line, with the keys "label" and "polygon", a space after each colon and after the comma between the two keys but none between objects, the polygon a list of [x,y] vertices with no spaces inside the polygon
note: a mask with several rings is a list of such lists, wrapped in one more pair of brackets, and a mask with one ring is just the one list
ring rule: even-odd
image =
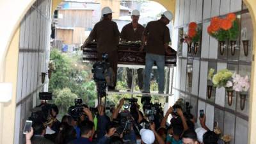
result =
[{"label": "dark-haired head with forehead showing, at bottom right of the crowd", "polygon": [[191,129],[185,131],[182,136],[182,142],[183,144],[198,144],[196,132],[192,131]]}]

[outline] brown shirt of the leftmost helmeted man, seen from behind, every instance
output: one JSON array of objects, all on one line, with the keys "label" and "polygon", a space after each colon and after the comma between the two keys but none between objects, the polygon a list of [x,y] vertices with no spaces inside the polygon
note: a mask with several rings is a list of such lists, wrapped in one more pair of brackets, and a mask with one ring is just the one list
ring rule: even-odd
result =
[{"label": "brown shirt of the leftmost helmeted man, seen from behind", "polygon": [[88,37],[89,42],[96,40],[97,51],[101,53],[117,50],[119,39],[120,32],[116,22],[112,20],[101,20],[97,22]]}]

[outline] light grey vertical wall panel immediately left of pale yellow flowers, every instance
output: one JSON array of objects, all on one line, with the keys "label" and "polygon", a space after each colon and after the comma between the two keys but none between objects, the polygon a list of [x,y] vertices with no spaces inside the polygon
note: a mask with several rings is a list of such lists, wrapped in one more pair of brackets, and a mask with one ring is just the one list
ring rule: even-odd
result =
[{"label": "light grey vertical wall panel immediately left of pale yellow flowers", "polygon": [[207,69],[208,62],[201,61],[200,65],[200,84],[199,84],[199,97],[206,99],[206,90],[207,90]]}]

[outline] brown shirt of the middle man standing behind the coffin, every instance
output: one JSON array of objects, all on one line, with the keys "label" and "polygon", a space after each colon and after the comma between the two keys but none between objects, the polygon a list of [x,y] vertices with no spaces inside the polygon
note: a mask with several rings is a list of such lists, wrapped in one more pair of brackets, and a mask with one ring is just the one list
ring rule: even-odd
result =
[{"label": "brown shirt of the middle man standing behind the coffin", "polygon": [[126,42],[142,40],[144,29],[141,24],[138,24],[136,30],[133,29],[132,23],[126,24],[121,31],[121,39]]}]

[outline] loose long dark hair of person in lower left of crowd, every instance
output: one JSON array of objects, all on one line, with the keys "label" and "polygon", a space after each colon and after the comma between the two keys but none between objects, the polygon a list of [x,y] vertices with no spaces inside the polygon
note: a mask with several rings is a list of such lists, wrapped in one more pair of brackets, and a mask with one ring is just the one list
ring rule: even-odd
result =
[{"label": "loose long dark hair of person in lower left of crowd", "polygon": [[76,130],[66,122],[60,124],[60,132],[56,136],[56,144],[67,144],[76,139]]}]

